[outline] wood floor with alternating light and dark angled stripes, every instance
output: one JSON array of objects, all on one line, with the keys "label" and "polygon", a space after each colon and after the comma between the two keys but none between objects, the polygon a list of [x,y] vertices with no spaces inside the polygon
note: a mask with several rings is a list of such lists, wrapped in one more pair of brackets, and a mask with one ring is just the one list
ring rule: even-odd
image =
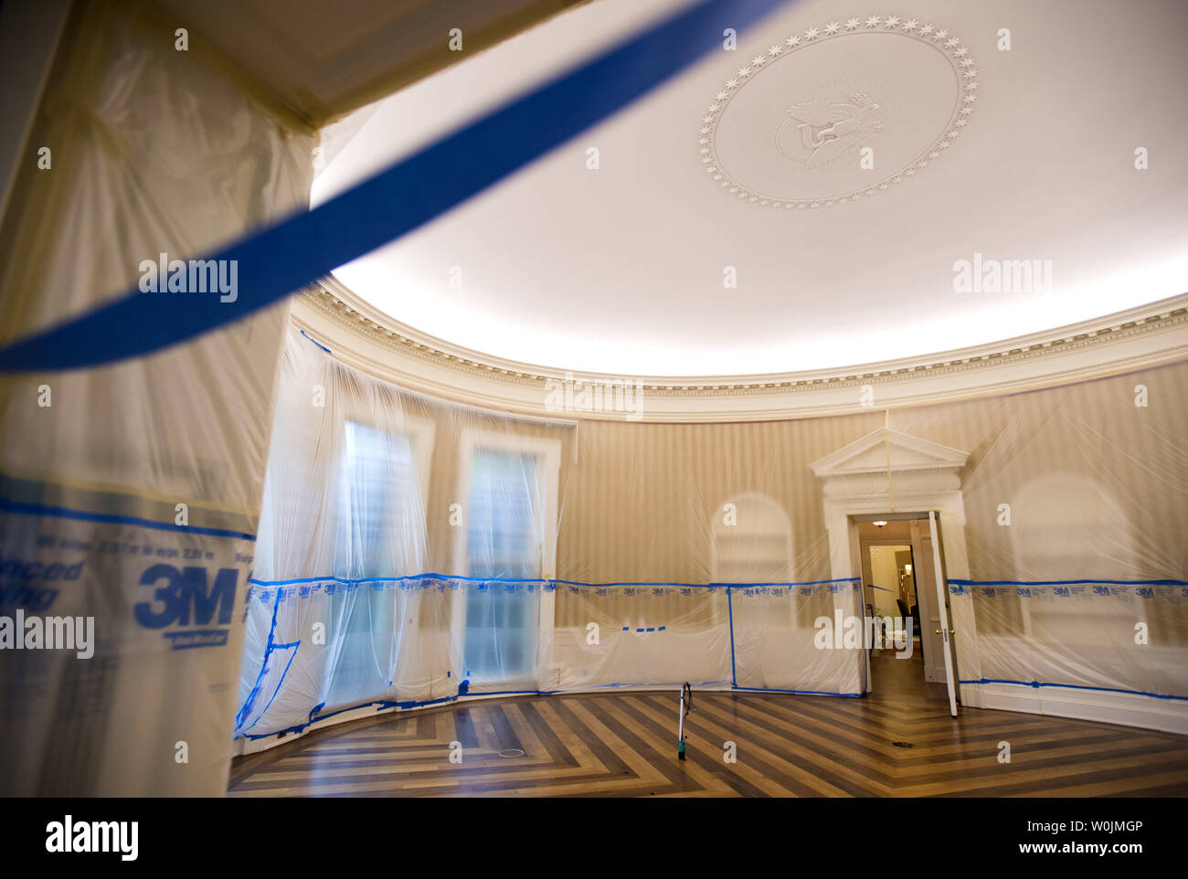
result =
[{"label": "wood floor with alternating light and dark angled stripes", "polygon": [[[1188,796],[1188,738],[962,709],[917,662],[865,698],[677,693],[510,697],[384,715],[238,758],[232,796]],[[998,761],[1009,741],[1011,763]],[[451,741],[462,761],[449,761]],[[738,760],[723,760],[723,742]],[[892,742],[909,741],[914,748]],[[523,755],[501,757],[516,748]]]}]

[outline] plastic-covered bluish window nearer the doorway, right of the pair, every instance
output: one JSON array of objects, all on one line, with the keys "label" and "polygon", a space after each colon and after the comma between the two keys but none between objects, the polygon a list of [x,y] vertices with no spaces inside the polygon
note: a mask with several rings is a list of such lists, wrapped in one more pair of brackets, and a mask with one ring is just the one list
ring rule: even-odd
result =
[{"label": "plastic-covered bluish window nearer the doorway, right of the pair", "polygon": [[[508,582],[554,576],[560,444],[516,435],[467,434],[465,544],[470,582],[460,632],[472,683],[536,679],[549,646],[552,595]],[[544,622],[542,622],[542,620]]]}]

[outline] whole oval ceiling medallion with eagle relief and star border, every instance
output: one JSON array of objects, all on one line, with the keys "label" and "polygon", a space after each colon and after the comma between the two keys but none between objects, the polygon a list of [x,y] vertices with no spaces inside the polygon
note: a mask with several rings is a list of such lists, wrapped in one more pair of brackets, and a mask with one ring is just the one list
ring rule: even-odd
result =
[{"label": "whole oval ceiling medallion with eagle relief and star border", "polygon": [[977,101],[978,68],[949,31],[851,18],[794,33],[739,68],[702,115],[697,148],[731,195],[833,207],[941,158]]}]

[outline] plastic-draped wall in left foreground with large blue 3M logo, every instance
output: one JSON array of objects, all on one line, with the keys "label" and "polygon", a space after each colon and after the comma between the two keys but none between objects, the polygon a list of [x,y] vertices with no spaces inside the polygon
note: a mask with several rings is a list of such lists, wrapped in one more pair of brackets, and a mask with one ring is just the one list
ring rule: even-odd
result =
[{"label": "plastic-draped wall in left foreground with large blue 3M logo", "polygon": [[[0,234],[5,341],[308,201],[314,135],[139,8],[77,4],[68,24]],[[198,295],[220,292],[145,293]],[[286,324],[274,308],[0,380],[0,637],[21,640],[0,656],[0,792],[225,792]]]}]

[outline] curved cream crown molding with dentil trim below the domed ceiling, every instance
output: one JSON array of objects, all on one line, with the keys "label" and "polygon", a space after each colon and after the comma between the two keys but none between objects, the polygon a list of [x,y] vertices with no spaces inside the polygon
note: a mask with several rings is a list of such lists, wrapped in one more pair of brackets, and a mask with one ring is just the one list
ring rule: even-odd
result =
[{"label": "curved cream crown molding with dentil trim below the domed ceiling", "polygon": [[[296,296],[291,318],[337,360],[410,391],[522,415],[600,420],[820,417],[1016,393],[1188,359],[1188,293],[1045,333],[916,358],[680,378],[575,373],[482,354],[396,321],[333,277]],[[550,392],[567,380],[627,382],[628,405],[638,393],[637,415],[625,416],[621,406],[589,411],[581,403],[550,405]]]}]

